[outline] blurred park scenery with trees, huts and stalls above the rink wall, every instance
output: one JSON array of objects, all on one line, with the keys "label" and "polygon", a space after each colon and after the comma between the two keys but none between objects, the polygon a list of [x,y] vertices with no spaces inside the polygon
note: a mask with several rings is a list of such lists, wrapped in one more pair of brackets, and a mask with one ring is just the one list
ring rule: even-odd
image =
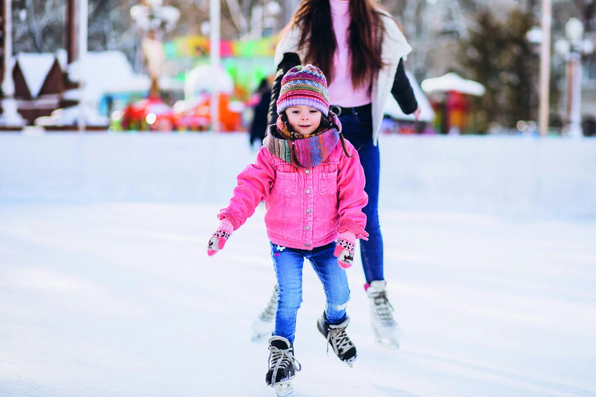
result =
[{"label": "blurred park scenery with trees, huts and stalls above the rink wall", "polygon": [[[275,72],[278,33],[298,4],[225,0],[210,15],[208,0],[3,1],[2,98],[15,101],[0,125],[249,130],[259,86]],[[406,67],[423,107],[423,122],[412,123],[391,101],[384,132],[535,134],[542,95],[544,134],[596,135],[592,2],[549,4],[548,87],[539,79],[538,0],[383,5],[414,48]],[[211,121],[214,89],[219,123]]]}]

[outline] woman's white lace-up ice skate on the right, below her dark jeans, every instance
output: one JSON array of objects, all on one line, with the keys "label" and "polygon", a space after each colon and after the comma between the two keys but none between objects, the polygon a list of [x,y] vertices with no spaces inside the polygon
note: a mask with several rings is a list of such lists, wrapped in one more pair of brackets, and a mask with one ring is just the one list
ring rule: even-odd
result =
[{"label": "woman's white lace-up ice skate on the right, below her dark jeans", "polygon": [[373,281],[365,288],[370,299],[371,325],[375,341],[399,349],[400,330],[393,320],[393,307],[387,299],[385,280]]}]

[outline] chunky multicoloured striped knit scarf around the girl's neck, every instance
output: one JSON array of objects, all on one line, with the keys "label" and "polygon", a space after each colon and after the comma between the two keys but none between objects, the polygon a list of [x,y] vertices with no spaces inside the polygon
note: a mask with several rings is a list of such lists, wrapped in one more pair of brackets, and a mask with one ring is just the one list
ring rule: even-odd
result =
[{"label": "chunky multicoloured striped knit scarf around the girl's neck", "polygon": [[[294,139],[296,157],[302,167],[312,168],[321,164],[337,146],[339,134],[342,132],[342,124],[339,122],[339,118],[331,111],[328,118],[333,123],[333,126],[328,130],[311,135],[294,134],[297,135],[296,139]],[[267,136],[263,140],[263,146],[272,155],[281,158],[285,162],[294,164],[292,161],[292,142],[289,136],[290,134],[285,129],[280,116],[277,118],[277,124],[269,126]]]}]

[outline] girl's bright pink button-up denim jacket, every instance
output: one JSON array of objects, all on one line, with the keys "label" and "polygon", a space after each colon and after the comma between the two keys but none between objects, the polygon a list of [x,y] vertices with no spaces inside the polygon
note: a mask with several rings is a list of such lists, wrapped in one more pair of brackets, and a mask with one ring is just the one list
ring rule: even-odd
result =
[{"label": "girl's bright pink button-up denim jacket", "polygon": [[347,140],[347,157],[337,142],[321,164],[300,168],[260,148],[254,164],[238,175],[238,186],[218,218],[228,218],[238,229],[265,201],[265,226],[271,242],[290,248],[312,249],[350,230],[367,239],[364,171],[358,152]]}]

